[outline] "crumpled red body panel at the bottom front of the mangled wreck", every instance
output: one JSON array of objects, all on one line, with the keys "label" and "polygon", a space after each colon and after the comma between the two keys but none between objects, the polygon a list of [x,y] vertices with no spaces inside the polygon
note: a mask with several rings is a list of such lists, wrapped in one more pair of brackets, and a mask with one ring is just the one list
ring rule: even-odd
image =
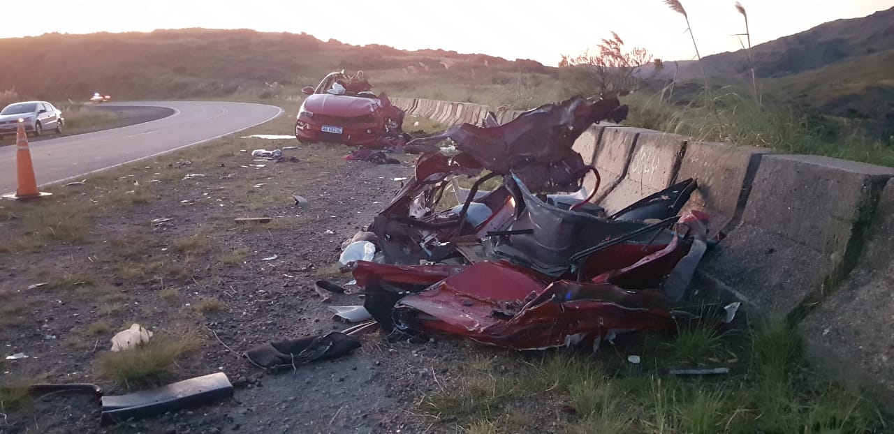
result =
[{"label": "crumpled red body panel at the bottom front of the mangled wreck", "polygon": [[672,330],[659,291],[611,283],[545,283],[509,263],[475,263],[401,298],[401,325],[519,350],[602,340],[612,330]]}]

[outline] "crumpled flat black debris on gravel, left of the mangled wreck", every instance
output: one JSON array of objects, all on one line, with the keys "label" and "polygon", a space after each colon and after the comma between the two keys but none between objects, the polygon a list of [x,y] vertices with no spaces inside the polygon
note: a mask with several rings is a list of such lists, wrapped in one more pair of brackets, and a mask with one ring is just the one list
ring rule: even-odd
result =
[{"label": "crumpled flat black debris on gravel, left of the mangled wreck", "polygon": [[245,353],[249,362],[268,370],[295,369],[299,364],[329,360],[348,355],[360,347],[360,341],[333,331],[316,338],[300,338],[256,346]]}]

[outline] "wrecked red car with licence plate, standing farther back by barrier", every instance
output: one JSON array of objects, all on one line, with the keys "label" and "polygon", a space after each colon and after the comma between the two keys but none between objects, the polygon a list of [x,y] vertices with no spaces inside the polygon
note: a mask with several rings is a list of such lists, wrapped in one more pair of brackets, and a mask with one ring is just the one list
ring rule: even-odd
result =
[{"label": "wrecked red car with licence plate, standing farther back by barrier", "polygon": [[403,111],[384,93],[376,96],[362,71],[332,72],[316,88],[301,91],[308,98],[295,122],[299,142],[384,147],[387,138],[401,135]]}]

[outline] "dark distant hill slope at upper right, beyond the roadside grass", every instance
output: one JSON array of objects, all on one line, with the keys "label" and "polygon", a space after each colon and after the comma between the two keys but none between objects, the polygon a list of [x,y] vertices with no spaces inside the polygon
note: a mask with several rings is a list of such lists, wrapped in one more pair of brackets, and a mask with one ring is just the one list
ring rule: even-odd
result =
[{"label": "dark distant hill slope at upper right, beyond the roadside grass", "polygon": [[[830,21],[755,46],[752,54],[765,101],[794,103],[874,137],[894,136],[894,7]],[[703,62],[714,88],[750,88],[745,50],[709,55]],[[696,62],[679,62],[679,70],[665,64],[664,79],[676,72],[678,81],[702,82]]]}]

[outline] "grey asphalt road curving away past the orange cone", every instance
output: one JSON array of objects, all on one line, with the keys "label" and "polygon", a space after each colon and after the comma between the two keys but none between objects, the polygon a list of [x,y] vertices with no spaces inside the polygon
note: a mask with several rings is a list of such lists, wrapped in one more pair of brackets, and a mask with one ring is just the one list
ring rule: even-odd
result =
[{"label": "grey asphalt road curving away past the orange cone", "polygon": [[[38,185],[196,145],[270,121],[283,113],[273,105],[246,103],[140,101],[106,104],[114,105],[170,107],[174,113],[129,127],[30,143]],[[0,192],[15,191],[15,153],[14,145],[0,147]]]}]

